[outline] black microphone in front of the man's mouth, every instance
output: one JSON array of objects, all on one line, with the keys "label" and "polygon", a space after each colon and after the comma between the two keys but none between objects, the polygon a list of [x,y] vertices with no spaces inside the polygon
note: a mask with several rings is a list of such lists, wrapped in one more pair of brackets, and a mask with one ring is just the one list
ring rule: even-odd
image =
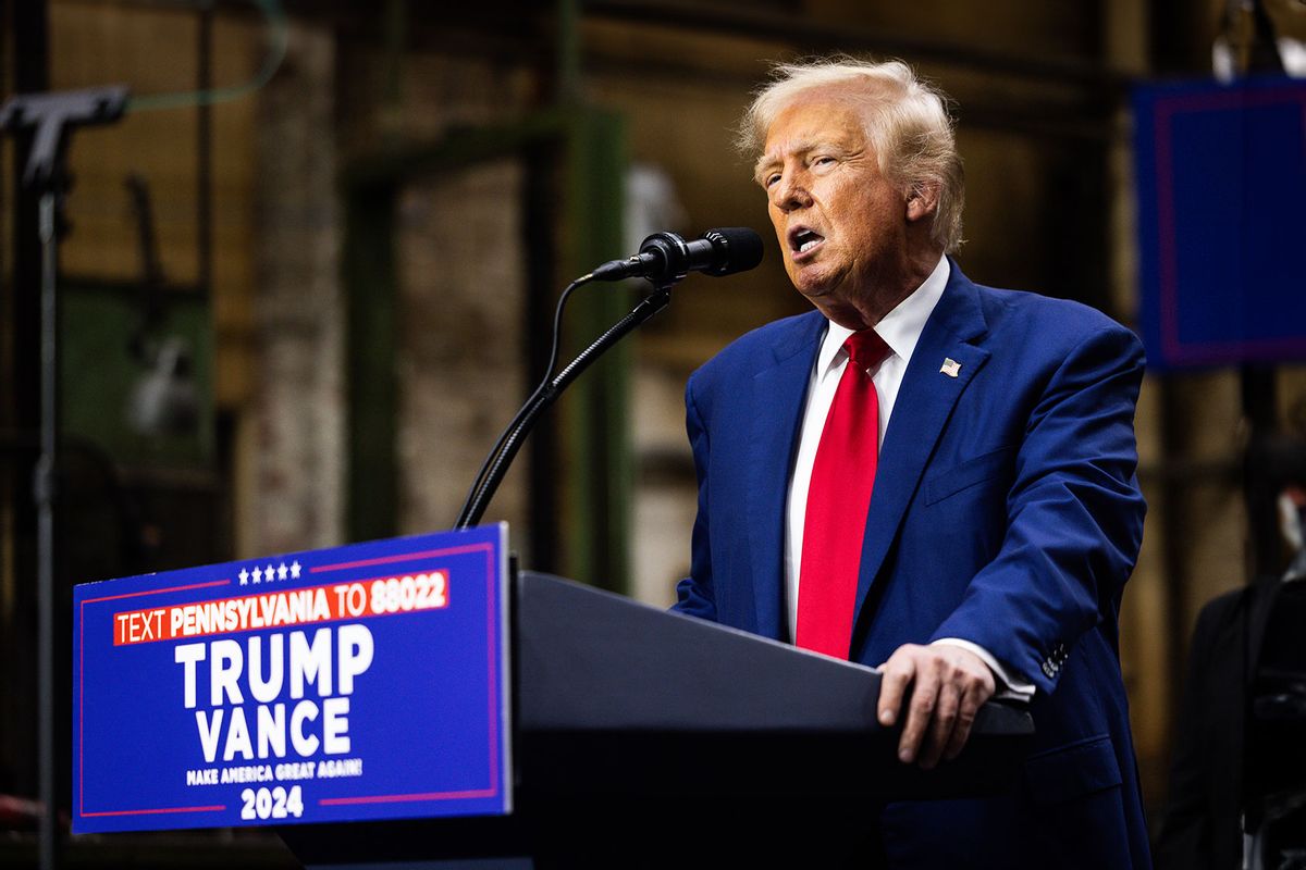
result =
[{"label": "black microphone in front of the man's mouth", "polygon": [[708,230],[701,239],[686,241],[674,232],[654,232],[627,260],[610,260],[594,271],[594,280],[648,278],[654,284],[671,284],[691,271],[733,275],[761,262],[761,236],[748,227]]}]

